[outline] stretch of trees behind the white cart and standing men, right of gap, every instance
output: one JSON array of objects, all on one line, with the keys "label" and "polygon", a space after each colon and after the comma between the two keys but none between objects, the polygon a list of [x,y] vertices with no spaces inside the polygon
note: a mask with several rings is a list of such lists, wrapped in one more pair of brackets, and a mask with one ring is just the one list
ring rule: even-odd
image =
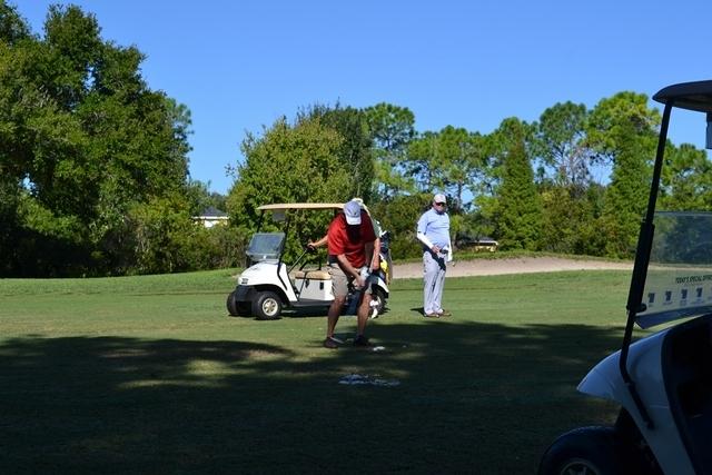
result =
[{"label": "stretch of trees behind the white cart and standing men, right of gap", "polygon": [[[419,254],[415,221],[442,191],[456,237],[491,237],[503,250],[631,258],[661,121],[647,103],[630,91],[592,109],[560,102],[535,122],[506,118],[487,135],[454,126],[418,132],[413,112],[389,103],[314,106],[248,136],[227,206],[247,235],[260,204],[358,196],[394,232],[403,258]],[[712,209],[706,152],[668,148],[660,205]],[[594,178],[601,167],[611,170],[605,184]]]}]

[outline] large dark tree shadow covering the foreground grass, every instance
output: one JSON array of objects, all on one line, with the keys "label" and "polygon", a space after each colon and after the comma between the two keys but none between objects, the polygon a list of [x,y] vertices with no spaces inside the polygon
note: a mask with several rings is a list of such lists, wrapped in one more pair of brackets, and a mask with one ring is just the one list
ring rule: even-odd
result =
[{"label": "large dark tree shadow covering the foreground grass", "polygon": [[[614,417],[575,393],[617,329],[375,325],[384,352],[24,337],[0,346],[0,473],[534,473]],[[395,387],[338,384],[349,373]]]}]

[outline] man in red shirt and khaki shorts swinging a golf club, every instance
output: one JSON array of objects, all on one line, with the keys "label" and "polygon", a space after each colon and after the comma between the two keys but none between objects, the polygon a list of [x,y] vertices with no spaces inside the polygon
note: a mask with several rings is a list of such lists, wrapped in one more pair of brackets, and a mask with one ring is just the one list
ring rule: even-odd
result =
[{"label": "man in red shirt and khaki shorts swinging a golf club", "polygon": [[[334,329],[338,317],[342,315],[349,283],[353,283],[356,288],[363,289],[360,294],[362,300],[358,303],[358,310],[356,311],[357,330],[354,346],[370,346],[368,338],[364,336],[364,331],[366,330],[366,321],[368,321],[372,289],[366,286],[365,278],[360,275],[363,267],[369,266],[374,270],[379,266],[378,253],[374,249],[376,234],[370,218],[366,211],[362,210],[358,201],[350,200],[344,205],[344,212],[339,212],[332,220],[327,236],[328,271],[332,276],[334,301],[329,307],[324,346],[338,348],[343,343],[334,337]],[[368,256],[372,256],[370,263],[367,261]]]}]

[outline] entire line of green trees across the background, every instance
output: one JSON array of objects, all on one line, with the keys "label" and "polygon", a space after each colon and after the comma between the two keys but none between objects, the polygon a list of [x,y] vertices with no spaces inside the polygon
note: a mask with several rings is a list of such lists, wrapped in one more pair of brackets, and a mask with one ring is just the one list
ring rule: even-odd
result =
[{"label": "entire line of green trees across the background", "polygon": [[[406,107],[313,105],[241,142],[228,196],[190,179],[190,111],[140,73],[142,53],[105,41],[96,18],[53,6],[42,34],[0,0],[0,276],[95,276],[244,264],[257,207],[360,197],[414,257],[415,220],[448,196],[457,236],[502,249],[631,257],[660,112],[620,92],[562,102],[491,133],[417,131]],[[473,113],[476,113],[474,111]],[[710,209],[704,150],[669,142],[660,202]],[[606,167],[610,181],[593,178]],[[229,226],[205,229],[207,206]],[[328,217],[305,218],[306,240]],[[296,250],[294,250],[296,251]]]}]

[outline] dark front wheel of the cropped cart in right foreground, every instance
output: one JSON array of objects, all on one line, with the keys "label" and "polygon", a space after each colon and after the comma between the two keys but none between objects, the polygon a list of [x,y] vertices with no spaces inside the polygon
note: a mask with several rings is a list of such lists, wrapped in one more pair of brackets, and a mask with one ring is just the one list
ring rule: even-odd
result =
[{"label": "dark front wheel of the cropped cart in right foreground", "polygon": [[621,452],[613,427],[581,427],[563,434],[548,447],[538,474],[622,475]]}]

